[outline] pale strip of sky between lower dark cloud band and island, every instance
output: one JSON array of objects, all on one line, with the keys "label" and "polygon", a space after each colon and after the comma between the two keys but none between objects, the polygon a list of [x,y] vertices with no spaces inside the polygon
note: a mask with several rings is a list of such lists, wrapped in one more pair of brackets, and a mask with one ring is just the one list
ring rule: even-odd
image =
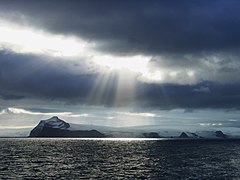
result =
[{"label": "pale strip of sky between lower dark cloud band and island", "polygon": [[[69,123],[94,124],[100,126],[130,127],[156,126],[159,128],[202,129],[215,127],[240,127],[239,111],[224,112],[219,110],[196,110],[186,113],[184,109],[151,110],[126,108],[104,108],[78,106],[69,111],[53,109],[31,110],[19,107],[8,107],[0,112],[0,128],[34,127],[40,120],[59,116]],[[70,110],[71,109],[71,110]],[[7,120],[4,120],[7,119]],[[23,124],[23,122],[25,122]],[[184,126],[182,126],[184,124]]]}]

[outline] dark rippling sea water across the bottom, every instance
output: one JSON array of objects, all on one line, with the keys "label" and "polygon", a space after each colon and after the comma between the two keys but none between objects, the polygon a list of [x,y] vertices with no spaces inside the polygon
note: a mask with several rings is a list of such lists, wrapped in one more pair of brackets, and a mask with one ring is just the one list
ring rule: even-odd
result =
[{"label": "dark rippling sea water across the bottom", "polygon": [[0,179],[81,178],[240,178],[240,141],[0,139]]}]

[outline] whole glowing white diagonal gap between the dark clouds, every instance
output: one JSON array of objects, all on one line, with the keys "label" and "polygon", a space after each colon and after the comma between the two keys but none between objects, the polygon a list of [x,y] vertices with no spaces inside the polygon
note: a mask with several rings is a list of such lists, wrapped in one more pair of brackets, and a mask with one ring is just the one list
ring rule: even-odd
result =
[{"label": "whole glowing white diagonal gap between the dark clouds", "polygon": [[[94,42],[88,42],[79,36],[66,36],[51,34],[41,29],[25,27],[12,22],[0,20],[0,49],[20,54],[34,54],[57,58],[85,59],[95,66],[108,71],[128,70],[137,73],[138,80],[154,83],[179,82],[179,76],[183,80],[179,83],[193,83],[196,81],[193,71],[175,71],[169,68],[152,71],[148,63],[151,56],[113,56],[96,51]],[[102,72],[105,73],[105,72]],[[122,73],[123,74],[123,73]],[[127,74],[129,75],[129,74]]]}]

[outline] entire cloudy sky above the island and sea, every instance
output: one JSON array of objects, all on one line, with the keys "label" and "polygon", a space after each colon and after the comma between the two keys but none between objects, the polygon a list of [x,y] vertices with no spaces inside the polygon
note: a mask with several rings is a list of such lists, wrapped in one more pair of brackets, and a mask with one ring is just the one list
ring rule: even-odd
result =
[{"label": "entire cloudy sky above the island and sea", "polygon": [[0,129],[240,127],[238,0],[0,0]]}]

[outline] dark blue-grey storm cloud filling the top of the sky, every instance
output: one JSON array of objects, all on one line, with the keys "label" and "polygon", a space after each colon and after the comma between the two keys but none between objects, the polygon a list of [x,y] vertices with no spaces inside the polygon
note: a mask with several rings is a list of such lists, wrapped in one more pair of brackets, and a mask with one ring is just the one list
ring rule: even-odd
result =
[{"label": "dark blue-grey storm cloud filling the top of the sky", "polygon": [[4,1],[2,17],[76,35],[111,53],[197,53],[240,46],[240,2]]}]

